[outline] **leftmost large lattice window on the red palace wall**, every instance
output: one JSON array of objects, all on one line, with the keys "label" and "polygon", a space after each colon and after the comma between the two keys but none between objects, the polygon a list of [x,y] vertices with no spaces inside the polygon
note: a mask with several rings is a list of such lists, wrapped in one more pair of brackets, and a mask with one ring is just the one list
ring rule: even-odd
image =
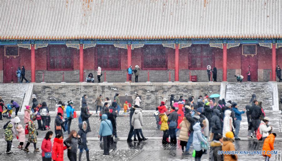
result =
[{"label": "leftmost large lattice window on the red palace wall", "polygon": [[71,49],[65,45],[49,47],[48,70],[73,70]]}]

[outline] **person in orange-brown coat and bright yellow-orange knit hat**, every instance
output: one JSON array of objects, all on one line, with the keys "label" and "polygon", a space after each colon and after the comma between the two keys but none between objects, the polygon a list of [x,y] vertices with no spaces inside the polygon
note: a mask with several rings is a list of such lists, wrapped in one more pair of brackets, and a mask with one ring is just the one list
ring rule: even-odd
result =
[{"label": "person in orange-brown coat and bright yellow-orange knit hat", "polygon": [[[225,137],[222,139],[222,151],[227,152],[227,151],[236,151],[235,146],[233,144],[234,142],[234,134],[233,132],[229,131],[226,132]],[[224,161],[236,161],[238,160],[237,154],[223,154]]]}]

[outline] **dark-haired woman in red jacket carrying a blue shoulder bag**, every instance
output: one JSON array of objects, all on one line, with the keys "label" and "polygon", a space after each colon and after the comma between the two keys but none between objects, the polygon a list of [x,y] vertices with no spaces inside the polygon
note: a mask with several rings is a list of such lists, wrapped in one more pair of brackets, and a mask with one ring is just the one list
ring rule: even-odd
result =
[{"label": "dark-haired woman in red jacket carrying a blue shoulder bag", "polygon": [[46,132],[45,138],[43,139],[41,144],[42,161],[52,161],[52,142],[51,142],[52,137],[53,137],[52,131]]}]

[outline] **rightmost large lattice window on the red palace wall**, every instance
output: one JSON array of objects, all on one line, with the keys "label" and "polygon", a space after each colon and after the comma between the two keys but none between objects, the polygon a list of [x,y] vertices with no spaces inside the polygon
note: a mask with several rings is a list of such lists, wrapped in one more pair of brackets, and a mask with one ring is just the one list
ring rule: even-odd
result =
[{"label": "rightmost large lattice window on the red palace wall", "polygon": [[189,69],[205,70],[207,65],[214,65],[212,47],[209,45],[192,45],[189,53]]}]

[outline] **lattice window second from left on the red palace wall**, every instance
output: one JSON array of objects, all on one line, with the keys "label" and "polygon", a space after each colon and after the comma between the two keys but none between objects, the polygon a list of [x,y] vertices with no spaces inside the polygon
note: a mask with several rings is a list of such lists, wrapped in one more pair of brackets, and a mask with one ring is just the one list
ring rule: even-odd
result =
[{"label": "lattice window second from left on the red palace wall", "polygon": [[96,49],[96,68],[100,66],[102,70],[120,69],[120,55],[118,54],[118,48],[113,45],[97,45]]}]

